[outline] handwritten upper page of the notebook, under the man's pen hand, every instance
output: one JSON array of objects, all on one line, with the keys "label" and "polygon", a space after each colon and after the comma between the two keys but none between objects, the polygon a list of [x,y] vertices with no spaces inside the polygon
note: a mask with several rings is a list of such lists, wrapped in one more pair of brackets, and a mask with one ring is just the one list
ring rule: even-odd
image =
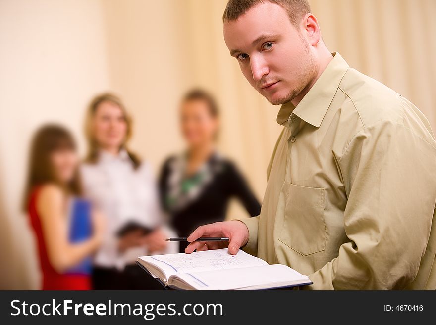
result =
[{"label": "handwritten upper page of the notebook, under the man's pen hand", "polygon": [[159,265],[165,264],[166,269],[172,269],[172,274],[268,265],[264,260],[242,250],[239,250],[236,255],[231,255],[227,248],[193,252],[191,254],[154,255],[148,256],[148,259],[161,262]]}]

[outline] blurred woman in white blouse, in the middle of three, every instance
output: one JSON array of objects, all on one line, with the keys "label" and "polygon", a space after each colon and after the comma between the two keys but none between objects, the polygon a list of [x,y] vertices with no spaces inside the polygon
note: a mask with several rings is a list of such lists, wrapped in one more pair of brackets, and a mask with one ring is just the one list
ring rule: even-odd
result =
[{"label": "blurred woman in white blouse, in the middle of three", "polygon": [[135,265],[136,258],[175,253],[178,247],[163,240],[173,233],[163,224],[150,165],[127,147],[132,122],[120,98],[111,93],[95,97],[85,126],[89,150],[81,168],[84,192],[108,221],[94,260],[93,286],[161,289]]}]

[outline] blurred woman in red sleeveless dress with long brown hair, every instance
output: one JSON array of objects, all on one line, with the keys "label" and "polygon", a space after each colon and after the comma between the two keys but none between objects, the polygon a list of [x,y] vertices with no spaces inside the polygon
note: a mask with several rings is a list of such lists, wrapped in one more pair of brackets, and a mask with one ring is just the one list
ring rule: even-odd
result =
[{"label": "blurred woman in red sleeveless dress with long brown hair", "polygon": [[71,241],[72,202],[81,194],[78,162],[74,139],[63,127],[48,125],[36,133],[24,205],[36,236],[43,290],[91,289],[90,274],[80,264],[99,247],[104,219],[90,211],[89,235]]}]

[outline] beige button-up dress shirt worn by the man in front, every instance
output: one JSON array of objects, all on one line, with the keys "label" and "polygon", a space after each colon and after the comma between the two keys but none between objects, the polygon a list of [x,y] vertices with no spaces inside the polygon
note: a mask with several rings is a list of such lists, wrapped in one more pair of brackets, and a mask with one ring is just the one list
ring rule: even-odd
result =
[{"label": "beige button-up dress shirt worn by the man in front", "polygon": [[310,275],[305,289],[436,287],[436,142],[406,98],[333,59],[294,107],[244,250]]}]

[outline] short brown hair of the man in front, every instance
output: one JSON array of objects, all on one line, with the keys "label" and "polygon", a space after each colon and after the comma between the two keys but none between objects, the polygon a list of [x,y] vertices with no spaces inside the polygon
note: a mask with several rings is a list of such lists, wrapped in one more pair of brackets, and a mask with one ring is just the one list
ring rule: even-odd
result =
[{"label": "short brown hair of the man in front", "polygon": [[252,7],[266,2],[278,4],[285,9],[294,26],[298,26],[301,18],[311,12],[307,0],[229,0],[222,15],[222,22],[237,20]]}]

